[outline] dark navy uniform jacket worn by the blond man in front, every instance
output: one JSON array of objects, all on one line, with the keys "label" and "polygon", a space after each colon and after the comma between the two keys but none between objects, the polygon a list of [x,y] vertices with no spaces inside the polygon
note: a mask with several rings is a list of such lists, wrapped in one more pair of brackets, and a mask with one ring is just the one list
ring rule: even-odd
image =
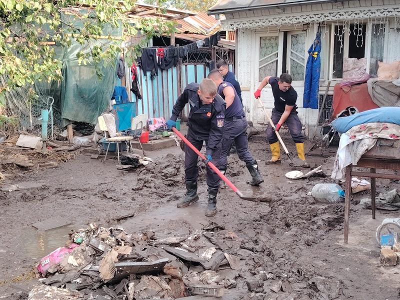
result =
[{"label": "dark navy uniform jacket worn by the blond man in front", "polygon": [[198,140],[208,140],[205,151],[207,155],[211,154],[221,141],[226,103],[219,94],[216,94],[212,103],[202,105],[197,94],[198,86],[198,83],[190,83],[185,87],[173,105],[171,120],[176,121],[186,103],[189,103],[187,134]]}]

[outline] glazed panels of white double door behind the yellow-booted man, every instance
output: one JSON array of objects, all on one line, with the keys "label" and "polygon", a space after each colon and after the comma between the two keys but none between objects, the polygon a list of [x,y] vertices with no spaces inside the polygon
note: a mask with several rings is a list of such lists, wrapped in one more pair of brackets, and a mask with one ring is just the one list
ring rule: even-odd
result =
[{"label": "glazed panels of white double door behind the yellow-booted man", "polygon": [[286,31],[259,37],[258,81],[265,76],[291,74],[293,81],[304,80],[305,32]]}]

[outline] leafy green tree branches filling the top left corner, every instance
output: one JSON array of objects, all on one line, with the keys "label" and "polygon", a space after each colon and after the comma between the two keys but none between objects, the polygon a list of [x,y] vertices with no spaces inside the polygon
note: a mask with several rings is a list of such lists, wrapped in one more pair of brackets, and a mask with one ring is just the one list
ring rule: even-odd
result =
[{"label": "leafy green tree branches filling the top left corner", "polygon": [[[163,3],[164,0],[160,2]],[[173,23],[161,18],[130,17],[126,12],[135,0],[0,0],[0,103],[4,92],[35,80],[61,80],[62,61],[57,46],[79,43],[89,51],[77,53],[79,63],[115,62],[121,39],[109,31],[123,30],[126,40],[134,37],[130,60],[141,43],[152,35],[171,32]],[[111,37],[107,43],[98,38]],[[140,42],[137,43],[137,40]],[[98,75],[101,76],[97,67]]]}]

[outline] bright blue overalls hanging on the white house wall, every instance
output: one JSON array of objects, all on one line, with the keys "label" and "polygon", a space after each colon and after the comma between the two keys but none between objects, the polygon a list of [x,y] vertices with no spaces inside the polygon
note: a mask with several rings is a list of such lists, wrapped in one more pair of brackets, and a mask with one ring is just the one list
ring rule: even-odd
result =
[{"label": "bright blue overalls hanging on the white house wall", "polygon": [[318,109],[319,75],[321,71],[321,30],[318,27],[314,42],[308,49],[308,59],[305,66],[303,107]]}]

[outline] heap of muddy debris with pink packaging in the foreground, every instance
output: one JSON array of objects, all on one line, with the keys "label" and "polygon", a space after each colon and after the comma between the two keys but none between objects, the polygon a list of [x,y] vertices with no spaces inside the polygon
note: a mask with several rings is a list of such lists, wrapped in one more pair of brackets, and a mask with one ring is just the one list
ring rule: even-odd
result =
[{"label": "heap of muddy debris with pink packaging in the foreground", "polygon": [[[224,233],[217,237],[218,232]],[[39,280],[48,286],[36,286],[28,299],[43,293],[71,299],[222,296],[236,287],[242,267],[233,244],[239,247],[237,236],[216,224],[190,235],[157,238],[153,231],[128,234],[92,223],[38,262]]]}]

